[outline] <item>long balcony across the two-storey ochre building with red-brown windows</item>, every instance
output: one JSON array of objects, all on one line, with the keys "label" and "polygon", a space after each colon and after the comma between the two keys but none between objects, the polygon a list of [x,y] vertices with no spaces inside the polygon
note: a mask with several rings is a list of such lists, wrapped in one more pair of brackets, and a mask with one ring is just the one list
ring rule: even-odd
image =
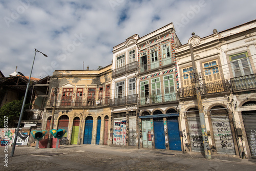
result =
[{"label": "long balcony across the two-storey ochre building with red-brown windows", "polygon": [[[102,98],[98,100],[57,100],[56,107],[86,107],[86,106],[102,106],[108,105],[110,103],[110,98]],[[50,100],[48,107],[53,106],[53,100]]]}]

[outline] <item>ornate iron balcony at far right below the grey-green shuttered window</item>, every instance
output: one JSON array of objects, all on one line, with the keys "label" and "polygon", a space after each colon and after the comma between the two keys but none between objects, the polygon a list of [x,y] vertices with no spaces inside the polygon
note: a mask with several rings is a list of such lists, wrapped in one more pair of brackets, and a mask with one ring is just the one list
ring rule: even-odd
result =
[{"label": "ornate iron balcony at far right below the grey-green shuttered window", "polygon": [[256,88],[256,74],[231,78],[230,83],[233,91]]}]

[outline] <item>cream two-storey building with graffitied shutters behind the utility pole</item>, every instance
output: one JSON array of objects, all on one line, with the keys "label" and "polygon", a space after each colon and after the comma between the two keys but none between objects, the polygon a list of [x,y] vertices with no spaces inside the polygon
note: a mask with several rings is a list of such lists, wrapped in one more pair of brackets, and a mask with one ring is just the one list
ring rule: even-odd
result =
[{"label": "cream two-storey building with graffitied shutters behind the utility pole", "polygon": [[204,152],[197,80],[211,154],[255,156],[255,22],[222,32],[214,29],[203,38],[193,34],[187,44],[176,48],[184,151]]}]

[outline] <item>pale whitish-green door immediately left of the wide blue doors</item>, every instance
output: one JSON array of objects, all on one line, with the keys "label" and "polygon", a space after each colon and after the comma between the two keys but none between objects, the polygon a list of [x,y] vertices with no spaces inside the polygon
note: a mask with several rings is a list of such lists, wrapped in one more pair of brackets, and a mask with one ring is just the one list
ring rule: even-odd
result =
[{"label": "pale whitish-green door immediately left of the wide blue doors", "polygon": [[150,119],[142,119],[142,147],[152,148]]}]

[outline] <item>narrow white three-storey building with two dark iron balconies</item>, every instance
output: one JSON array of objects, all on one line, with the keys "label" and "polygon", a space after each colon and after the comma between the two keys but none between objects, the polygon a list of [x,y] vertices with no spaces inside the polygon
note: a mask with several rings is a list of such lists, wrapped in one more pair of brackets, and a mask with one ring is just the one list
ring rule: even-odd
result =
[{"label": "narrow white three-storey building with two dark iron balconies", "polygon": [[111,140],[113,145],[138,145],[138,61],[134,34],[113,48]]}]

